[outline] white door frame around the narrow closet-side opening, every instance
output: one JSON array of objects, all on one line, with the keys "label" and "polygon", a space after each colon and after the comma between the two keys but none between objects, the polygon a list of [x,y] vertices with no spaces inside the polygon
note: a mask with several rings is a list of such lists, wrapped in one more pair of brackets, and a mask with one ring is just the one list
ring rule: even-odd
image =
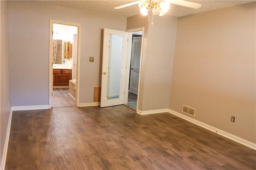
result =
[{"label": "white door frame around the narrow closet-side opening", "polygon": [[142,61],[142,49],[143,49],[143,40],[144,40],[144,27],[141,28],[134,28],[130,30],[126,30],[126,32],[129,32],[129,38],[128,38],[128,56],[127,56],[127,69],[126,69],[126,86],[125,86],[125,92],[124,92],[124,103],[128,103],[128,89],[129,89],[129,81],[130,81],[130,63],[131,63],[131,53],[132,53],[132,32],[138,32],[142,31],[142,38],[141,38],[141,52],[140,52],[140,72],[139,72],[139,83],[138,83],[138,95],[137,95],[137,109],[138,109],[138,103],[139,101],[139,95],[140,95],[140,73],[141,73],[141,61]]}]

